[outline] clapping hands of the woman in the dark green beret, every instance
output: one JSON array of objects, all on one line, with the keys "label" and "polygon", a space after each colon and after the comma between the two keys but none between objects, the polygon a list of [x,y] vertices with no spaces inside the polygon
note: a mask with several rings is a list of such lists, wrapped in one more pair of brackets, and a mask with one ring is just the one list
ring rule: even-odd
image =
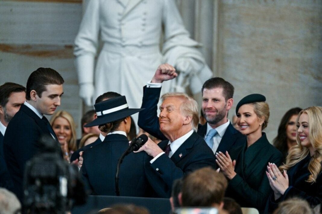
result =
[{"label": "clapping hands of the woman in the dark green beret", "polygon": [[235,177],[236,160],[232,161],[232,158],[228,154],[228,151],[226,151],[226,154],[217,152],[216,158],[216,163],[220,167],[220,170],[223,172],[223,174],[230,180]]}]

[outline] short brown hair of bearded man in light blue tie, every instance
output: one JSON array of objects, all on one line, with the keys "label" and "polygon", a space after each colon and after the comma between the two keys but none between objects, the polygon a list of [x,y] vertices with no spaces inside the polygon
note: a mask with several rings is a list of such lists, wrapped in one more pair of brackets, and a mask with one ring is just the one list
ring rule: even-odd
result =
[{"label": "short brown hair of bearded man in light blue tie", "polygon": [[232,98],[234,96],[234,87],[230,82],[225,81],[221,77],[213,77],[204,82],[202,86],[201,93],[204,94],[204,89],[213,89],[213,88],[222,88],[223,96],[225,97],[225,101]]}]

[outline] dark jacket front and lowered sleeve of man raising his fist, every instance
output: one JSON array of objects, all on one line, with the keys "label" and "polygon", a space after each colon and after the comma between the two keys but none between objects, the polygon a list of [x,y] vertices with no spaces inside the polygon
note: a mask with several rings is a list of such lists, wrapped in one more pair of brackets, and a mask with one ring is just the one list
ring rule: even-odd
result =
[{"label": "dark jacket front and lowered sleeve of man raising his fist", "polygon": [[[158,146],[165,150],[168,140],[161,141]],[[215,156],[204,139],[193,133],[175,153],[169,158],[161,155],[152,164],[159,179],[151,184],[160,197],[170,197],[172,183],[175,179],[183,177],[202,167],[214,167]]]}]

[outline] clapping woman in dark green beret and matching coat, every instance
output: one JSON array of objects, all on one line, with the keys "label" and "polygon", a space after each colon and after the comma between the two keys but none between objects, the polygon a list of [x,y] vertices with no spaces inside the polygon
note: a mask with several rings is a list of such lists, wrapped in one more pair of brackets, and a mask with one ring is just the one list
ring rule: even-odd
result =
[{"label": "clapping woman in dark green beret and matching coat", "polygon": [[[268,162],[279,165],[282,154],[274,148],[262,130],[267,126],[270,111],[260,94],[248,95],[237,104],[237,124],[247,136],[244,145],[216,154],[220,171],[228,178],[226,196],[242,207],[262,212],[271,189],[265,170]],[[232,161],[233,160],[233,161]]]}]

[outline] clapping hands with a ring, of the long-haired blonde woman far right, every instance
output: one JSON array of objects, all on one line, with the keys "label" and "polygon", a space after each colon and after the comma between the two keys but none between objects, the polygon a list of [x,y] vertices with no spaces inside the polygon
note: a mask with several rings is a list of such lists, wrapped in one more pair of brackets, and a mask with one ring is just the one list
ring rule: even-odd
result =
[{"label": "clapping hands with a ring, of the long-haired blonde woman far right", "polygon": [[289,187],[289,176],[286,171],[283,171],[283,174],[279,171],[279,168],[274,163],[268,163],[267,166],[268,172],[266,175],[270,182],[270,187],[274,191],[275,200],[281,197],[286,189]]}]

